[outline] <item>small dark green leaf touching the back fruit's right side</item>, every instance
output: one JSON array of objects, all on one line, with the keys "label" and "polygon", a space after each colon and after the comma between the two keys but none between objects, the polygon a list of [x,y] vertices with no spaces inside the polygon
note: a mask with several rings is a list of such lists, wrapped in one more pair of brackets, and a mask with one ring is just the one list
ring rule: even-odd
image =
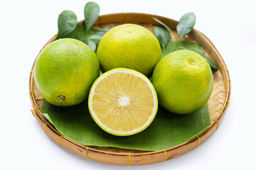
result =
[{"label": "small dark green leaf touching the back fruit's right side", "polygon": [[157,40],[159,40],[162,48],[165,48],[168,42],[171,40],[171,35],[169,31],[162,26],[154,27],[154,35],[156,36]]}]

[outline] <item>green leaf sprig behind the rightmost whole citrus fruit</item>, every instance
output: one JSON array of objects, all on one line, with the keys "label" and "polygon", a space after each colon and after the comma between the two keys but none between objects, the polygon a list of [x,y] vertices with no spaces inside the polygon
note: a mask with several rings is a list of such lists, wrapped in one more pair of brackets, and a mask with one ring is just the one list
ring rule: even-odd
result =
[{"label": "green leaf sprig behind the rightmost whole citrus fruit", "polygon": [[[176,30],[179,38],[176,37],[176,34],[168,26],[166,26],[166,24],[156,18],[154,18],[154,20],[161,24],[161,26],[154,27],[154,35],[156,36],[157,40],[159,40],[161,45],[161,57],[164,57],[177,50],[191,50],[201,55],[212,69],[218,69],[216,63],[204,55],[204,50],[201,45],[196,42],[181,41],[181,38],[185,37],[185,35],[193,30],[193,27],[196,24],[195,13],[186,13],[181,17],[180,21],[178,21]],[[171,40],[170,32],[174,34],[176,40]]]}]

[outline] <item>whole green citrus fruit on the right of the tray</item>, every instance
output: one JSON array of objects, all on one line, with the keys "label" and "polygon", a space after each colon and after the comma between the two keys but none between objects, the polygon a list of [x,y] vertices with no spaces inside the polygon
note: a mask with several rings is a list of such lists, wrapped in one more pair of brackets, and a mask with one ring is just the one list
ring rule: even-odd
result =
[{"label": "whole green citrus fruit on the right of the tray", "polygon": [[213,91],[213,73],[201,55],[178,50],[156,65],[152,84],[161,106],[173,113],[188,114],[206,105]]}]

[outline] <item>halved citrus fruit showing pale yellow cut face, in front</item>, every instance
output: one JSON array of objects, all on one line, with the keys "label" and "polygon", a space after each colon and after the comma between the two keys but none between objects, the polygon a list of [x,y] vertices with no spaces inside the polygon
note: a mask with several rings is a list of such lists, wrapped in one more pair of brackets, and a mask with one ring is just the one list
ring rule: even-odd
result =
[{"label": "halved citrus fruit showing pale yellow cut face, in front", "polygon": [[132,69],[112,69],[92,85],[88,98],[92,118],[112,135],[134,135],[146,129],[156,116],[154,86]]}]

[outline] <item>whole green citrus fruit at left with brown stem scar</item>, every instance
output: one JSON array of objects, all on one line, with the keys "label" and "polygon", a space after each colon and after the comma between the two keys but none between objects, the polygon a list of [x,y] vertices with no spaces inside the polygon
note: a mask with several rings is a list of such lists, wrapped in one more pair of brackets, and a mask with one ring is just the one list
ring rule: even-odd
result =
[{"label": "whole green citrus fruit at left with brown stem scar", "polygon": [[100,75],[100,63],[85,43],[63,38],[45,47],[36,60],[36,87],[49,103],[73,106],[84,101]]}]

